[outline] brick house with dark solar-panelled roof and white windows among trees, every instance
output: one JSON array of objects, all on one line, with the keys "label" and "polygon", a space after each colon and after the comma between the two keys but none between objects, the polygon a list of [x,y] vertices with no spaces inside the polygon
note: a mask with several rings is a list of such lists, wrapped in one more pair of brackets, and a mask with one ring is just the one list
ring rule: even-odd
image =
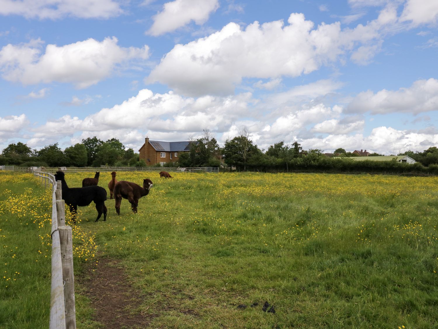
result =
[{"label": "brick house with dark solar-panelled roof and white windows among trees", "polygon": [[145,143],[140,147],[140,160],[144,160],[148,166],[178,161],[178,154],[189,152],[190,141],[186,142],[163,142],[145,138]]}]

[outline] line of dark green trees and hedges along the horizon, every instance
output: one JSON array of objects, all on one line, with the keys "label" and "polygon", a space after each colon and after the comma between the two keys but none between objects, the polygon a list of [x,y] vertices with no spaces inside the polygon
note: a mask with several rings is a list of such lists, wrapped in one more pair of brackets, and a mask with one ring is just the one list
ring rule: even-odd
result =
[{"label": "line of dark green trees and hedges along the horizon", "polygon": [[[327,157],[320,149],[303,150],[300,143],[286,144],[279,141],[260,149],[251,139],[248,129],[240,130],[239,135],[227,139],[223,147],[212,132],[205,129],[202,136],[191,138],[190,150],[180,152],[178,162],[167,163],[168,167],[220,167],[236,168],[251,171],[325,171],[325,172],[423,172],[438,173],[438,148],[429,147],[423,152],[407,151],[404,154],[418,161],[416,164],[402,164],[396,161],[351,161],[357,156],[343,148],[335,150],[336,158]],[[369,156],[382,154],[372,153]],[[145,161],[139,159],[139,154],[132,148],[125,150],[118,139],[108,139],[106,142],[92,138],[82,139],[65,150],[58,143],[32,150],[26,144],[18,142],[9,144],[0,155],[0,164],[30,166],[75,166],[85,167],[100,165],[145,167]],[[156,164],[159,166],[159,164]]]}]

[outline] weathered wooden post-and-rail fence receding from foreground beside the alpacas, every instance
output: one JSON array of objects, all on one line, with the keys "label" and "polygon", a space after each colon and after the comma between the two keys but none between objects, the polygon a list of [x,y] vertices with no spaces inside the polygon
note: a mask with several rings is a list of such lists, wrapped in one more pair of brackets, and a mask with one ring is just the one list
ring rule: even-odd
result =
[{"label": "weathered wooden post-and-rail fence receding from foreground beside the alpacas", "polygon": [[50,329],[75,329],[73,246],[71,227],[65,225],[65,204],[61,182],[48,172],[33,171],[44,186],[52,184],[52,283]]}]

